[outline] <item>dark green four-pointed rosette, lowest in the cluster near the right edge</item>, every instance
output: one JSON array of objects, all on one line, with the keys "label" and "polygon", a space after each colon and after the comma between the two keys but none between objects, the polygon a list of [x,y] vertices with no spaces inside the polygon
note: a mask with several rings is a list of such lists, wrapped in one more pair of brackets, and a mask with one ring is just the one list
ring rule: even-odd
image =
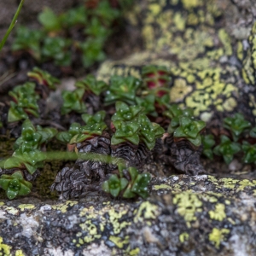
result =
[{"label": "dark green four-pointed rosette, lowest in the cluster near the right edge", "polygon": [[229,165],[234,158],[234,154],[238,153],[240,150],[241,145],[239,143],[233,143],[230,141],[229,137],[221,135],[220,144],[213,148],[213,153],[221,155],[225,163]]}]

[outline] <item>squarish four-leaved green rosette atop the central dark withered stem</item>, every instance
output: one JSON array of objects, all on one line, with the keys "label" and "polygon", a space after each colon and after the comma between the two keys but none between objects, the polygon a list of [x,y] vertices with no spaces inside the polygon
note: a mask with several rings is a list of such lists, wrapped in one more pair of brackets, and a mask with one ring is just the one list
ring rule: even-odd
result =
[{"label": "squarish four-leaved green rosette atop the central dark withered stem", "polygon": [[138,136],[140,125],[137,121],[123,122],[121,120],[116,120],[113,121],[113,126],[115,127],[116,131],[111,137],[111,145],[117,145],[125,142],[138,145],[140,142],[140,138]]}]

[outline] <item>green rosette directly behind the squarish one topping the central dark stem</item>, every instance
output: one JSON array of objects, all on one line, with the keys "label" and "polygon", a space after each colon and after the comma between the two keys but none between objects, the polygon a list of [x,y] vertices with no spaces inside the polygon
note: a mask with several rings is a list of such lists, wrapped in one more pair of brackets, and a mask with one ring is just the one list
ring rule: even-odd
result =
[{"label": "green rosette directly behind the squarish one topping the central dark stem", "polygon": [[116,102],[115,110],[116,112],[113,114],[111,120],[122,120],[125,122],[136,119],[142,113],[143,108],[137,105],[129,107],[125,102]]}]

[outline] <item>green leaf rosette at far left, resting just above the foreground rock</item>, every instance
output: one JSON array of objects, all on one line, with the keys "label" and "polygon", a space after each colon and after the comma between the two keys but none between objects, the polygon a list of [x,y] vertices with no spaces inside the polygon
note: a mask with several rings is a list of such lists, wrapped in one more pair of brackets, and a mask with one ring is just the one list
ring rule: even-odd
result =
[{"label": "green leaf rosette at far left, resting just above the foreground rock", "polygon": [[27,195],[32,189],[32,183],[26,181],[20,171],[14,172],[12,175],[3,174],[0,177],[0,185],[10,200],[17,195]]}]

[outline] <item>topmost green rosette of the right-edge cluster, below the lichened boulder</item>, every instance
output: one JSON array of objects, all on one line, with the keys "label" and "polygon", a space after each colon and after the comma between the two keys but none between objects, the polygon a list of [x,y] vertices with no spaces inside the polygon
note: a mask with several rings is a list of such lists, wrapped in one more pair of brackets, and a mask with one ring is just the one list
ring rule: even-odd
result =
[{"label": "topmost green rosette of the right-edge cluster, below the lichened boulder", "polygon": [[241,133],[251,126],[252,124],[244,119],[241,113],[236,113],[233,117],[224,119],[224,128],[230,130],[234,142],[237,142]]}]

